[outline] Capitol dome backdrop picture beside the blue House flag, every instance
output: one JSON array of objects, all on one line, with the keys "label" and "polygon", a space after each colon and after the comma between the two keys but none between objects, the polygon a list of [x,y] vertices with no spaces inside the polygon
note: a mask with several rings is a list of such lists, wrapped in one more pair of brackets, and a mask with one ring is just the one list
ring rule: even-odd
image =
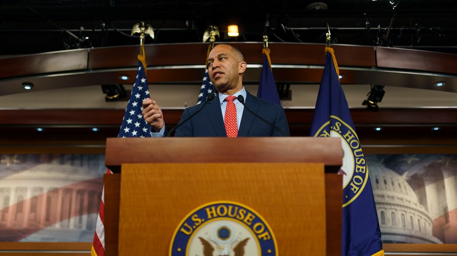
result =
[{"label": "Capitol dome backdrop picture beside the blue House flag", "polygon": [[445,156],[416,158],[416,161],[409,162],[411,168],[405,172],[404,168],[386,167],[382,155],[367,157],[382,241],[456,243],[455,163],[451,165],[451,159]]}]

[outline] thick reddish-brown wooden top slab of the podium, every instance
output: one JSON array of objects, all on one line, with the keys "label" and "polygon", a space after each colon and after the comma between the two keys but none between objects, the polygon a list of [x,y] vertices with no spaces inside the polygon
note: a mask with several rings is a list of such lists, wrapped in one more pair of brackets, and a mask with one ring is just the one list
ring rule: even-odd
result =
[{"label": "thick reddish-brown wooden top slab of the podium", "polygon": [[342,165],[341,138],[187,137],[108,138],[105,165],[122,163],[323,163]]}]

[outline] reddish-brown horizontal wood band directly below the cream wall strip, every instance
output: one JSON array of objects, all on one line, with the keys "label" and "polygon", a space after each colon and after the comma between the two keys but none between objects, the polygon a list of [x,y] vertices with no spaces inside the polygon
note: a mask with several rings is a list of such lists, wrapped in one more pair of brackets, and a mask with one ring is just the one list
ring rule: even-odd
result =
[{"label": "reddish-brown horizontal wood band directly below the cream wall strip", "polygon": [[[162,109],[167,123],[177,124],[183,109]],[[0,109],[0,125],[120,125],[124,109]],[[289,125],[311,124],[314,109],[286,108]],[[351,108],[355,125],[457,125],[457,108]]]}]

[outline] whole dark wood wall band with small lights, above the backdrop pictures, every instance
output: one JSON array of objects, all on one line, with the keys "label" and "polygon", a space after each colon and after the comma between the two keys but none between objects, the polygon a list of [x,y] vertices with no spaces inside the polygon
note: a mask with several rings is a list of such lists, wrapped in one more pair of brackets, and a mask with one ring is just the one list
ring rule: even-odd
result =
[{"label": "whole dark wood wall band with small lights, above the backdrop pictures", "polygon": [[[292,136],[309,136],[313,109],[285,109],[285,113]],[[182,109],[164,109],[168,129],[176,126],[181,114]],[[117,136],[123,115],[123,109],[0,110],[0,152],[40,152],[44,147],[50,153],[103,154],[106,138]],[[378,113],[357,108],[351,115],[366,154],[455,152],[455,108],[382,108]],[[93,132],[93,126],[99,131]],[[378,126],[383,129],[375,131]],[[433,131],[434,126],[441,129]]]}]

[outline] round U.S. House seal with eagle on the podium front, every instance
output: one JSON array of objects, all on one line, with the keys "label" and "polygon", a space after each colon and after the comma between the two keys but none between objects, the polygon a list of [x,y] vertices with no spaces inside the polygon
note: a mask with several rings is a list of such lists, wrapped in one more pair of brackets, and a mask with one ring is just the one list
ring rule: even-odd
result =
[{"label": "round U.S. House seal with eagle on the podium front", "polygon": [[253,209],[231,201],[190,212],[173,234],[170,256],[278,255],[275,236]]}]

